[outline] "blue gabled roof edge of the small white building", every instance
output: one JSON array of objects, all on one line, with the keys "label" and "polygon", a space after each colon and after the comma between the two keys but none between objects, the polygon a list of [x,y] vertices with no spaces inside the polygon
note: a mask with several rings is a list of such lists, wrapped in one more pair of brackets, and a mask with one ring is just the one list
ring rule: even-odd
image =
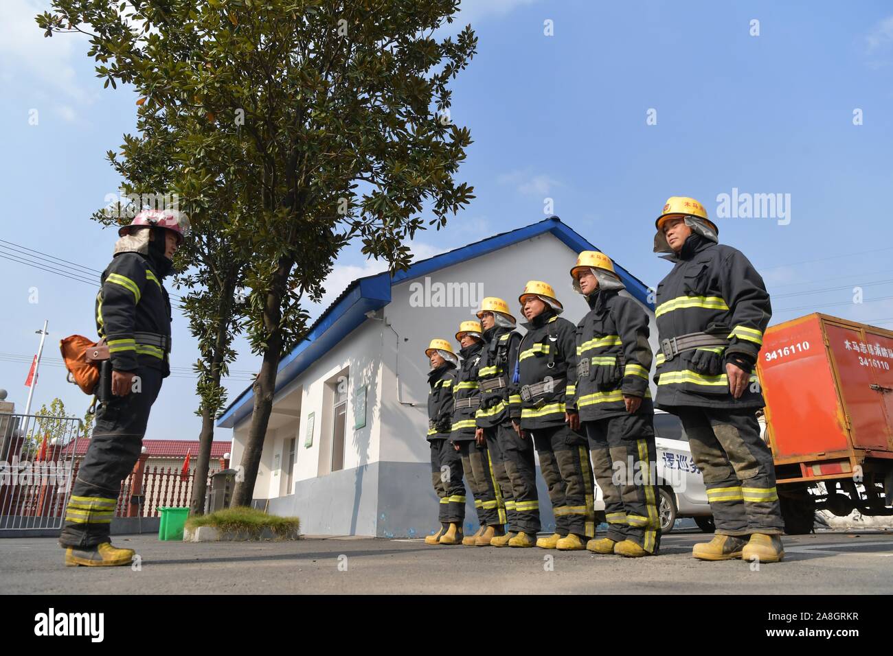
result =
[{"label": "blue gabled roof edge of the small white building", "polygon": [[[332,347],[362,324],[366,320],[366,312],[379,310],[390,303],[391,286],[411,278],[429,275],[432,271],[445,269],[454,264],[492,253],[505,248],[505,246],[517,244],[531,237],[544,235],[547,232],[552,233],[577,253],[580,253],[580,251],[599,250],[563,223],[558,217],[552,216],[530,226],[503,232],[447,253],[440,253],[426,260],[414,262],[409,269],[397,271],[393,275],[388,274],[386,271],[374,276],[357,278],[330,304],[326,311],[322,312],[320,318],[313,322],[313,326],[308,330],[305,340],[297,345],[291,353],[288,353],[286,357],[282,358],[276,374],[274,394],[287,386],[314,361],[328,353]],[[645,283],[633,276],[617,262],[614,262],[614,270],[623,281],[630,295],[653,310],[654,303],[648,301],[648,288]],[[251,413],[253,405],[254,392],[251,386],[248,386],[223,412],[223,415],[217,421],[217,426],[233,428]]]}]

